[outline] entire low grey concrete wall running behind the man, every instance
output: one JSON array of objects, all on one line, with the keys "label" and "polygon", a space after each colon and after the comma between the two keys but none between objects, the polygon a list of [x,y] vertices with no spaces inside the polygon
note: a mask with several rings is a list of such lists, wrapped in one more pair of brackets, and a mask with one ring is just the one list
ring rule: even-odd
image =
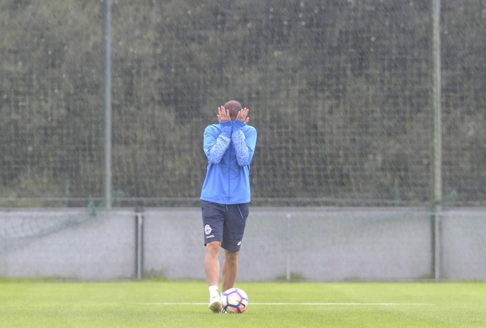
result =
[{"label": "entire low grey concrete wall running behind the man", "polygon": [[[308,280],[430,278],[430,212],[419,208],[251,207],[240,253],[239,281],[292,276]],[[86,280],[136,276],[133,209],[0,211],[0,276],[62,276]],[[143,273],[204,279],[199,208],[143,213]],[[441,273],[486,279],[486,211],[445,211]],[[223,254],[221,254],[223,258]]]}]

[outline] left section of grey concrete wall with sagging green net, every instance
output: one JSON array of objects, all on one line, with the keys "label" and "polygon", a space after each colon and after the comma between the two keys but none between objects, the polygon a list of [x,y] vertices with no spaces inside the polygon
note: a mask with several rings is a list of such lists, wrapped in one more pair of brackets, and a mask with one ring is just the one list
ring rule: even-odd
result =
[{"label": "left section of grey concrete wall with sagging green net", "polygon": [[134,263],[133,210],[0,212],[0,276],[126,279]]}]

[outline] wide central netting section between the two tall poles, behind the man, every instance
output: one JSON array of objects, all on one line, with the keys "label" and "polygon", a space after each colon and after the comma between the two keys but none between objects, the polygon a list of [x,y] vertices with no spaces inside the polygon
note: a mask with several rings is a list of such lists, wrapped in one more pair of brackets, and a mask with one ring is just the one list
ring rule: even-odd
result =
[{"label": "wide central netting section between the two tall poles, behind the man", "polygon": [[116,188],[197,198],[203,129],[237,99],[259,133],[254,201],[427,202],[427,3],[115,2]]}]

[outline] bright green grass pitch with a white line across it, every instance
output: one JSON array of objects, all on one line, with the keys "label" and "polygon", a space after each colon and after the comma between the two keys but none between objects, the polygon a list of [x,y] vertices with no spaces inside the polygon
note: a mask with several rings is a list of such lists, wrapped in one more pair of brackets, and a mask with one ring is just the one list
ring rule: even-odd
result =
[{"label": "bright green grass pitch with a white line across it", "polygon": [[236,287],[239,315],[210,312],[204,282],[0,280],[0,327],[486,327],[484,282]]}]

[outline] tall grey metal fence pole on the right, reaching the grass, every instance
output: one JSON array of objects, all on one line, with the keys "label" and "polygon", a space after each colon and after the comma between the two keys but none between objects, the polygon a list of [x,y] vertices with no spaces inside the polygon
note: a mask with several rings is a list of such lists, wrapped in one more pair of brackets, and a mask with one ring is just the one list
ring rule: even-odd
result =
[{"label": "tall grey metal fence pole on the right, reaching the grass", "polygon": [[440,279],[440,219],[442,216],[442,107],[441,107],[441,46],[440,0],[434,0],[433,8],[434,53],[434,278]]}]

